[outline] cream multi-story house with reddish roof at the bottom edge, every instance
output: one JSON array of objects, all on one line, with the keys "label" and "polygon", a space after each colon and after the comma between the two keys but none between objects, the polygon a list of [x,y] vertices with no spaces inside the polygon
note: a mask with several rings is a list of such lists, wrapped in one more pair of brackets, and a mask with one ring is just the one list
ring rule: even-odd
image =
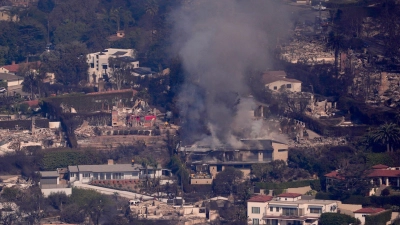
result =
[{"label": "cream multi-story house with reddish roof at the bottom edge", "polygon": [[248,222],[254,225],[317,225],[322,213],[335,213],[337,209],[337,201],[306,200],[296,193],[275,198],[258,195],[247,201]]}]

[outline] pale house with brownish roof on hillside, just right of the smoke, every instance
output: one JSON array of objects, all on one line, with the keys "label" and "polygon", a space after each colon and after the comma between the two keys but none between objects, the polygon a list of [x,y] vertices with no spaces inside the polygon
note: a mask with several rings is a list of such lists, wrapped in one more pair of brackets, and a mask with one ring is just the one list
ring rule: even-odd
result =
[{"label": "pale house with brownish roof on hillside, just right of the smoke", "polygon": [[285,71],[268,71],[262,76],[265,88],[271,91],[279,91],[282,87],[291,92],[301,92],[301,81],[286,78]]}]

